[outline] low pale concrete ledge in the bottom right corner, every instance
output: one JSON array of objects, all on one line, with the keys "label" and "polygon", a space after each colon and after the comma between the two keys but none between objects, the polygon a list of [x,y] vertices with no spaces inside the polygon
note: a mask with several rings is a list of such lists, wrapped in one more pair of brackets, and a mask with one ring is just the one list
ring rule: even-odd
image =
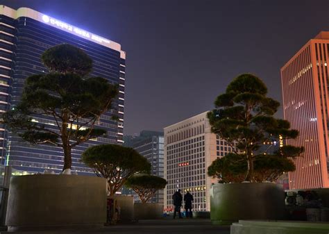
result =
[{"label": "low pale concrete ledge in the bottom right corner", "polygon": [[230,226],[230,234],[328,234],[329,223],[239,220]]}]

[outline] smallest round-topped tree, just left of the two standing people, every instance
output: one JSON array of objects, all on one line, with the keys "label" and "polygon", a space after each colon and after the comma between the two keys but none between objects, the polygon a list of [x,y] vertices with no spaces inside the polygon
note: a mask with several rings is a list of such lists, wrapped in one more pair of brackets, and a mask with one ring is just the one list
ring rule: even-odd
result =
[{"label": "smallest round-topped tree, just left of the two standing people", "polygon": [[159,176],[136,174],[128,178],[125,185],[137,193],[142,203],[146,203],[154,197],[155,192],[166,187],[167,181]]}]

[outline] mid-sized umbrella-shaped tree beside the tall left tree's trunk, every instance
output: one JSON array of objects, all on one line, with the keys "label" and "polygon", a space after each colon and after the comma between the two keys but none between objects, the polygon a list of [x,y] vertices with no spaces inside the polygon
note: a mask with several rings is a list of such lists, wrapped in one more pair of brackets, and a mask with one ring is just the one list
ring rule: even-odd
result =
[{"label": "mid-sized umbrella-shaped tree beside the tall left tree's trunk", "polygon": [[151,171],[151,164],[135,149],[117,144],[101,144],[88,148],[82,161],[94,169],[97,176],[108,180],[110,196],[115,194],[130,176]]}]

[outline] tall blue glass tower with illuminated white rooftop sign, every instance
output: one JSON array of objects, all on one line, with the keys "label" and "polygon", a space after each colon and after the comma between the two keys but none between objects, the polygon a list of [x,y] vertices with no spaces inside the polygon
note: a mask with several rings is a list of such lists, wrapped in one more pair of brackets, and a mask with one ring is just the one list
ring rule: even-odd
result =
[{"label": "tall blue glass tower with illuminated white rooftop sign", "polygon": [[[112,110],[96,123],[96,128],[106,129],[107,137],[98,137],[72,149],[72,170],[90,174],[92,170],[80,162],[81,153],[87,147],[123,143],[126,53],[120,44],[29,8],[13,10],[0,5],[0,112],[15,108],[26,77],[47,72],[41,63],[41,54],[62,43],[80,47],[94,60],[91,76],[101,76],[119,85],[119,96],[113,102]],[[112,116],[119,117],[119,121],[113,121]],[[35,116],[33,121],[49,128],[56,124],[46,115]],[[51,169],[58,173],[62,170],[61,148],[29,144],[10,133],[5,126],[0,126],[0,141],[4,165],[26,172]]]}]

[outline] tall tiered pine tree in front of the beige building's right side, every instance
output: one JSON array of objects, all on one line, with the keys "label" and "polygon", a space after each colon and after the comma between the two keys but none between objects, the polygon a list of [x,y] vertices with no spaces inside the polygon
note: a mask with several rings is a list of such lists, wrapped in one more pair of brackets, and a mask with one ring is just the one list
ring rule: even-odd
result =
[{"label": "tall tiered pine tree in front of the beige building's right side", "polygon": [[212,162],[208,175],[223,182],[274,181],[283,172],[294,171],[291,158],[298,157],[303,147],[281,145],[276,151],[264,143],[295,139],[298,131],[290,129],[287,120],[273,115],[280,103],[267,97],[267,87],[252,74],[233,79],[208,112],[212,133],[226,140],[233,152]]}]

